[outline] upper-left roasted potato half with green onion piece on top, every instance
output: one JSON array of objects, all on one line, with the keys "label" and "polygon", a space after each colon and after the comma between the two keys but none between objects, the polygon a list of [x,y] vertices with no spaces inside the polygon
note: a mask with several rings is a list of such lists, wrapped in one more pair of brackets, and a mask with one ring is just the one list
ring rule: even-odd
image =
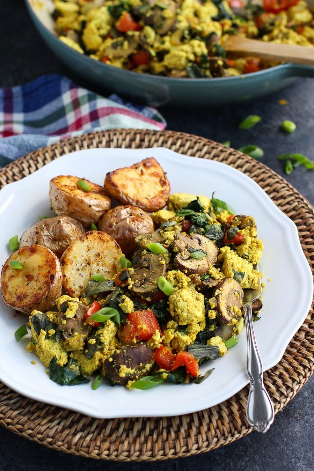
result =
[{"label": "upper-left roasted potato half with green onion piece on top", "polygon": [[[90,191],[83,191],[77,183],[79,180],[84,181]],[[92,222],[96,224],[111,205],[103,187],[73,175],[59,175],[50,180],[49,200],[57,215],[72,216],[84,227],[90,227]]]}]

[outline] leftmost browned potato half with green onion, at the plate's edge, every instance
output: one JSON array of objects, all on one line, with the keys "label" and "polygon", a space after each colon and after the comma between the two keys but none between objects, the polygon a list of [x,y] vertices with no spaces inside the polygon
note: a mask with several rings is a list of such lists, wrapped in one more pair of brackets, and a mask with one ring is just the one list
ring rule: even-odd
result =
[{"label": "leftmost browned potato half with green onion, at the plate's edge", "polygon": [[[23,268],[12,268],[18,261]],[[30,314],[47,311],[62,292],[61,265],[54,253],[40,245],[30,245],[12,253],[1,271],[4,302],[12,309]]]}]

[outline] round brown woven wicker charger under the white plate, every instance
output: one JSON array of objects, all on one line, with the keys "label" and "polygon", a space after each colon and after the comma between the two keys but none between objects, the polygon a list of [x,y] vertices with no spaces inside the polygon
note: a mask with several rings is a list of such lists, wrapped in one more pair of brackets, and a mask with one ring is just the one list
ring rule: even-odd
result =
[{"label": "round brown woven wicker charger under the white plate", "polygon": [[[254,179],[298,227],[314,272],[314,208],[274,171],[221,144],[171,131],[111,130],[44,147],[0,171],[0,187],[20,180],[60,155],[94,147],[167,147],[181,154],[231,165]],[[264,374],[278,413],[314,371],[314,310],[290,341],[282,360]],[[95,419],[25,398],[0,382],[0,424],[47,447],[75,455],[151,461],[207,452],[252,431],[246,421],[248,387],[209,409],[177,417]]]}]

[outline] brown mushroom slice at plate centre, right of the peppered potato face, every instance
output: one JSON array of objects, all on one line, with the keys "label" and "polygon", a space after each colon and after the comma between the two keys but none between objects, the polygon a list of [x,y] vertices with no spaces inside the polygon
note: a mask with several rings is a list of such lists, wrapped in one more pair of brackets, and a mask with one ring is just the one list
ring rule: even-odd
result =
[{"label": "brown mushroom slice at plate centre, right of the peppered potato face", "polygon": [[130,291],[141,298],[150,298],[156,294],[158,292],[158,278],[166,274],[164,260],[156,253],[145,253],[138,257],[133,268]]}]

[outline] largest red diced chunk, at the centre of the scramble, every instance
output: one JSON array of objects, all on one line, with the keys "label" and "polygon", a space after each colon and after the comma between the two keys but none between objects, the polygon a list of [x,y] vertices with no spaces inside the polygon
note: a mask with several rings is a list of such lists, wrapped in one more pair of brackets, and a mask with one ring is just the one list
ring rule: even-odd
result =
[{"label": "largest red diced chunk, at the centre of the scramble", "polygon": [[128,324],[123,327],[123,339],[126,342],[136,340],[149,340],[155,330],[161,334],[160,326],[157,317],[153,311],[134,311],[130,312],[127,316]]}]

